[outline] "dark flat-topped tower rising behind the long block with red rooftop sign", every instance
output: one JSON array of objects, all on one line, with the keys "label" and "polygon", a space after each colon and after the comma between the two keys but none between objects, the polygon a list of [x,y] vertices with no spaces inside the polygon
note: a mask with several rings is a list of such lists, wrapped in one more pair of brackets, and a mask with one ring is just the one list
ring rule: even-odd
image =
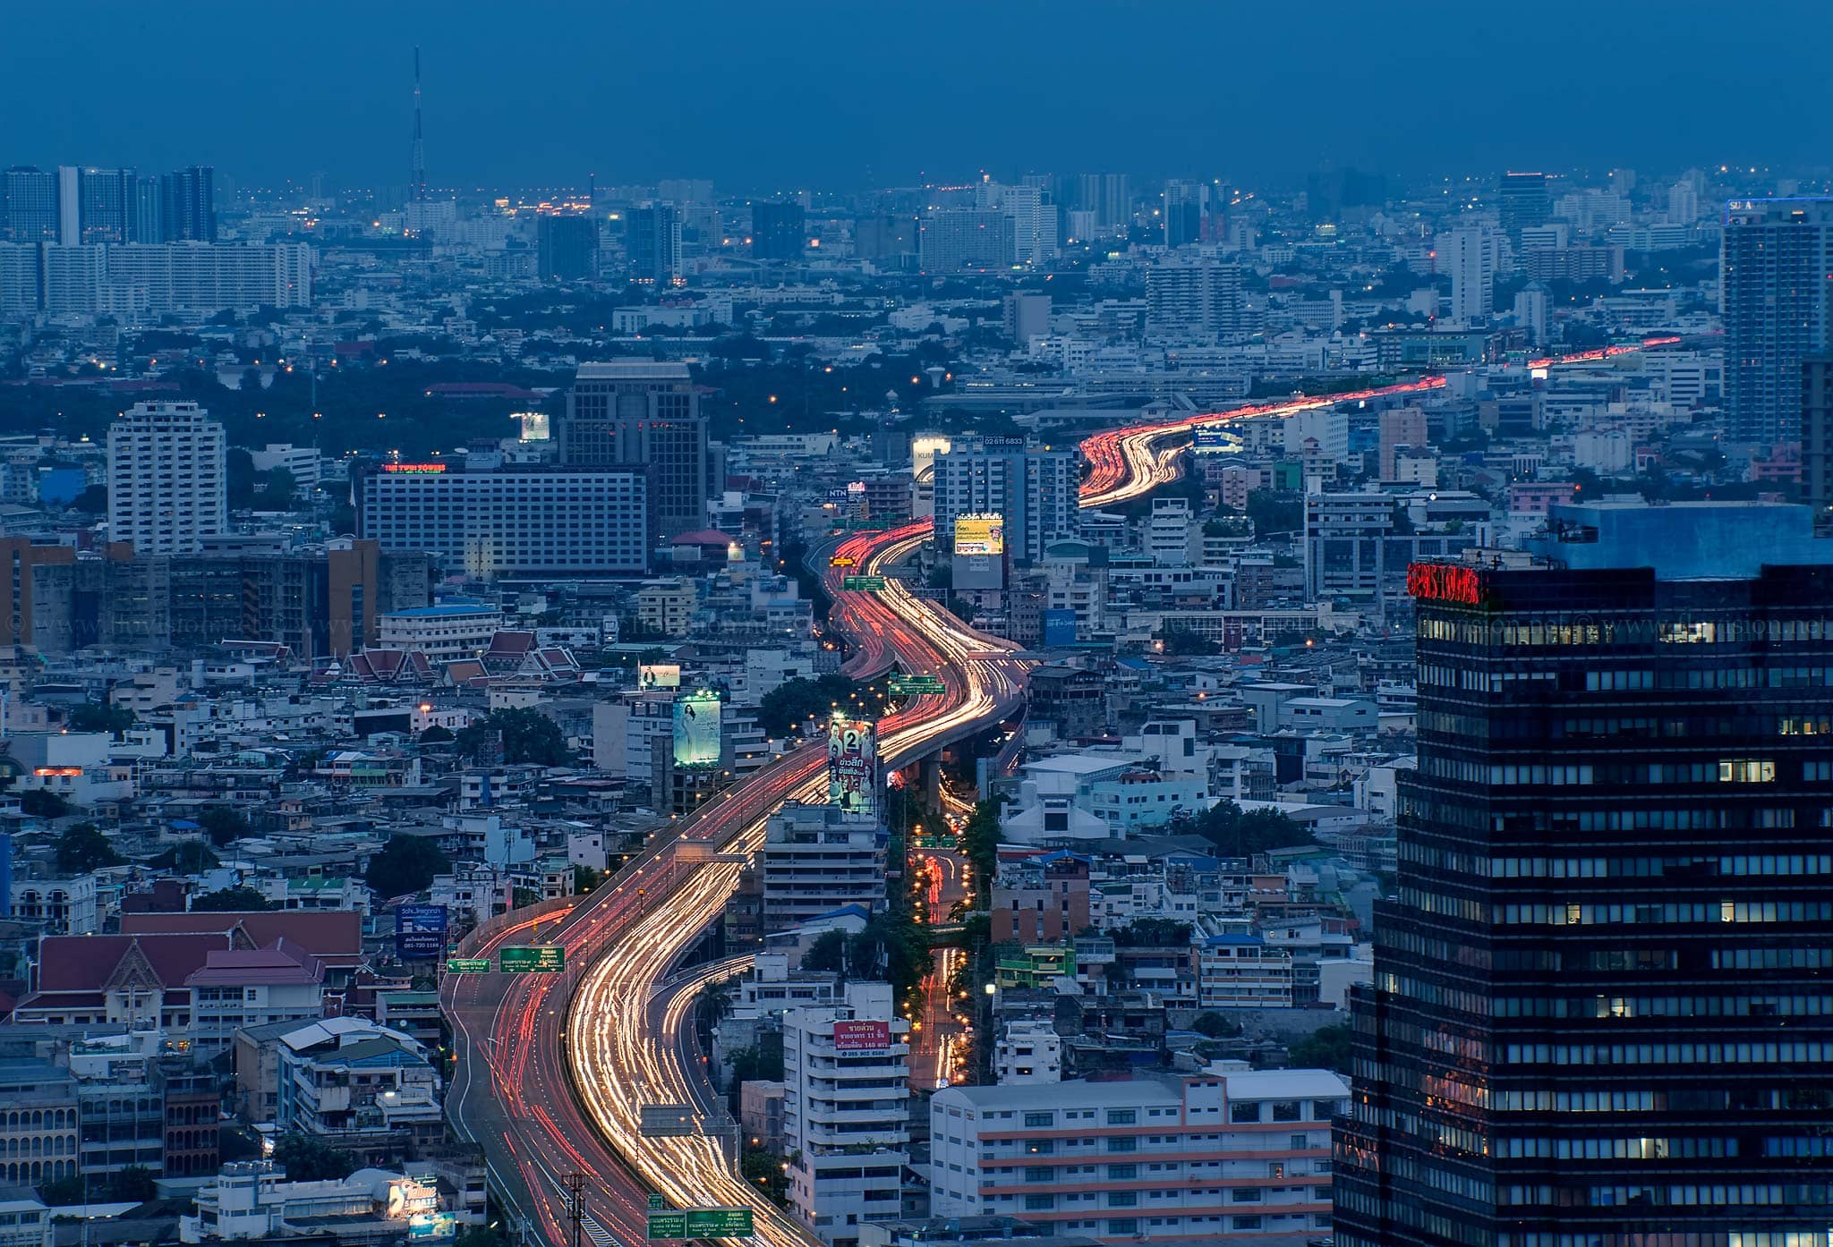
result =
[{"label": "dark flat-topped tower rising behind the long block with red rooftop sign", "polygon": [[687,364],[579,364],[557,441],[566,467],[647,467],[653,529],[662,538],[706,527],[711,460]]}]

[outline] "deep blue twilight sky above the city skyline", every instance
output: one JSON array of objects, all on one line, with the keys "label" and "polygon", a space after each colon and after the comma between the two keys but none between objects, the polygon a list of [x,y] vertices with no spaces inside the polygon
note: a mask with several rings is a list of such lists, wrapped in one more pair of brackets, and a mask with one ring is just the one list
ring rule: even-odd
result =
[{"label": "deep blue twilight sky above the city skyline", "polygon": [[858,189],[1824,165],[1826,0],[0,0],[0,165]]}]

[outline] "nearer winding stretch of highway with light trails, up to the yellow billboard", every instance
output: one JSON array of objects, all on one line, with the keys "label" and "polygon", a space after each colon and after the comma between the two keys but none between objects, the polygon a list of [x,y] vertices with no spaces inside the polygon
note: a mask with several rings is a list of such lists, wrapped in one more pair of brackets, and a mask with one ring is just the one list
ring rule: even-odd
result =
[{"label": "nearer winding stretch of highway with light trails, up to the yellow billboard", "polygon": [[[827,577],[834,621],[856,641],[849,674],[896,663],[937,674],[946,687],[880,720],[887,767],[1001,721],[1023,698],[1025,661],[1010,643],[973,632],[895,579],[880,593],[840,588],[847,571],[874,575],[907,557],[927,531],[920,522],[851,537],[834,549],[845,566]],[[825,745],[803,745],[720,793],[574,908],[464,949],[467,956],[510,943],[566,949],[563,976],[466,974],[444,989],[462,1053],[449,1117],[486,1148],[497,1188],[543,1240],[568,1242],[566,1176],[577,1172],[587,1177],[583,1231],[601,1245],[643,1240],[651,1192],[676,1207],[750,1203],[759,1240],[812,1242],[737,1177],[720,1139],[645,1137],[642,1108],[695,1104],[698,1126],[720,1124],[706,1113],[702,1071],[684,1060],[693,992],[673,991],[658,1013],[658,985],[720,916],[742,855],[763,842],[768,813],[786,798],[825,795]]]}]

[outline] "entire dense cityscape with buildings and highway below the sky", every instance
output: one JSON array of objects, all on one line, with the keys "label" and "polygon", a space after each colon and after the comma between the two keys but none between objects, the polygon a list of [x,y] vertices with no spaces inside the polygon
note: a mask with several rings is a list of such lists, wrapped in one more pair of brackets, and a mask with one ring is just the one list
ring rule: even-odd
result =
[{"label": "entire dense cityscape with buildings and highway below the sky", "polygon": [[0,132],[0,1247],[1833,1247],[1826,168],[471,185],[427,51]]}]

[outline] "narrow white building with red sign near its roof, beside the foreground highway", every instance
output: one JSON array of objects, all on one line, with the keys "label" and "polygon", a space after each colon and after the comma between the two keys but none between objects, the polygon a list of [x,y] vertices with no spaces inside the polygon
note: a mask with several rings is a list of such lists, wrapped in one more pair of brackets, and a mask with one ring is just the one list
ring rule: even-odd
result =
[{"label": "narrow white building with red sign near its roof, beside the foreground highway", "polygon": [[902,1210],[909,1161],[909,1024],[891,983],[847,983],[843,1005],[783,1014],[783,1148],[790,1212],[829,1247]]}]

